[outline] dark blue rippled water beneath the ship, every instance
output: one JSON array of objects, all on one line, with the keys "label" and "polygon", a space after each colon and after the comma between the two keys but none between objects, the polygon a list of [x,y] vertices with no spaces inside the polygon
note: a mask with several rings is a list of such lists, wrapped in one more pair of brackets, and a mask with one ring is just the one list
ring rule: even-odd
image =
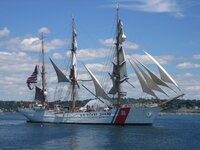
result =
[{"label": "dark blue rippled water beneath the ship", "polygon": [[26,123],[0,113],[2,150],[199,150],[200,115],[158,116],[153,126]]}]

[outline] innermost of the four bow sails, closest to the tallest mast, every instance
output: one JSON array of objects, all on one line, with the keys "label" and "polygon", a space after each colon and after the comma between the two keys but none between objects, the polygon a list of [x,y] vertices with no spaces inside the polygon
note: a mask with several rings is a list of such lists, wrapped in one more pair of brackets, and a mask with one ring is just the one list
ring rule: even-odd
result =
[{"label": "innermost of the four bow sails, closest to the tallest mast", "polygon": [[142,87],[142,91],[157,98],[156,94],[148,87],[147,83],[144,81],[144,79],[142,78],[140,73],[136,70],[136,68],[133,66],[133,64],[131,62],[130,64],[138,77],[138,80]]}]

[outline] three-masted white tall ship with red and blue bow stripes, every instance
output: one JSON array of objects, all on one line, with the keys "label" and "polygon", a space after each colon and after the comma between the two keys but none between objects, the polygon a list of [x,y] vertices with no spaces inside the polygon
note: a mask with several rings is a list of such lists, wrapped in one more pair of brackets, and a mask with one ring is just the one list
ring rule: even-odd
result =
[{"label": "three-masted white tall ship with red and blue bow stripes", "polygon": [[[164,108],[164,106],[167,105],[167,103],[176,100],[184,94],[181,93],[177,83],[172,79],[167,71],[149,53],[145,52],[145,54],[157,66],[160,76],[151,71],[145,64],[137,59],[129,59],[129,61],[127,61],[125,51],[123,49],[123,43],[125,40],[126,36],[123,31],[122,21],[119,17],[119,8],[117,7],[116,38],[114,46],[115,56],[111,62],[112,70],[107,74],[112,81],[112,87],[108,92],[106,92],[95,74],[87,65],[84,65],[84,68],[91,77],[91,81],[93,81],[95,89],[95,92],[93,92],[86,87],[86,85],[82,83],[80,84],[78,80],[76,57],[77,41],[74,17],[72,17],[72,42],[70,50],[71,62],[68,76],[57,67],[52,59],[50,59],[54,70],[56,71],[58,82],[64,82],[69,85],[68,88],[71,91],[70,99],[72,100],[72,106],[65,109],[60,109],[60,107],[57,106],[55,109],[50,109],[47,100],[48,93],[46,92],[44,41],[42,36],[42,67],[40,72],[42,77],[41,87],[37,84],[39,70],[38,66],[36,66],[32,75],[27,79],[27,85],[29,88],[35,90],[35,103],[29,108],[20,108],[19,111],[27,118],[28,122],[36,123],[108,125],[152,124],[156,116]],[[168,93],[162,89],[162,87],[176,93],[176,96],[164,102],[158,101],[158,103],[141,103],[137,105],[133,103],[122,103],[123,96],[126,94],[126,89],[122,88],[123,84],[128,83],[131,87],[133,87],[133,85],[129,82],[127,63],[130,63],[132,70],[135,72],[142,91],[145,94],[154,97],[155,101],[158,101],[158,97],[154,91],[158,91],[169,96]],[[31,87],[33,84],[34,86]],[[173,85],[174,88],[170,85]],[[89,101],[81,108],[76,107],[77,92],[79,88],[86,89],[95,97],[95,100]],[[98,105],[95,105],[95,103],[98,103]]]}]

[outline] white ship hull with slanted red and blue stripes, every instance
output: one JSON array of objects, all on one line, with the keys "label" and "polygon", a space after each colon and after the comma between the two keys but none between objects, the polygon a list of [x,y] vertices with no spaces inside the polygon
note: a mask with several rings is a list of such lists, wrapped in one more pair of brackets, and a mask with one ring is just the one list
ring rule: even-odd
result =
[{"label": "white ship hull with slanted red and blue stripes", "polygon": [[62,112],[44,109],[21,109],[28,122],[64,124],[152,124],[161,108],[121,107],[100,112]]}]

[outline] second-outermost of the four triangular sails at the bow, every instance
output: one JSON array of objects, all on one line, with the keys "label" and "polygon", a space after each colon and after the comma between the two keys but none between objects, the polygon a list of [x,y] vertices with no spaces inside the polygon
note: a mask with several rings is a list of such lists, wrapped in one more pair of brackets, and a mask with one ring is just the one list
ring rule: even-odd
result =
[{"label": "second-outermost of the four triangular sails at the bow", "polygon": [[[152,72],[147,66],[145,66],[143,63],[141,63],[140,61],[137,60],[137,62],[139,62],[144,68],[145,70],[149,73],[149,75],[151,76],[152,80],[157,83],[158,85],[162,85],[165,87],[168,87],[169,89],[171,89],[172,91],[174,91],[171,87],[169,87],[169,85],[167,85],[162,79],[160,79],[154,72]],[[176,93],[176,91],[174,91]]]}]

